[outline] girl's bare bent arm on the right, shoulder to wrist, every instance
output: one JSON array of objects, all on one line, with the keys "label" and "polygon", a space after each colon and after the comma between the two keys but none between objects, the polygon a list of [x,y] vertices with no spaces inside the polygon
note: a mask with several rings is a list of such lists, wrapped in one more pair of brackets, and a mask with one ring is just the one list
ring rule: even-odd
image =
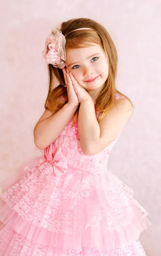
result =
[{"label": "girl's bare bent arm on the right, shoulder to wrist", "polygon": [[118,99],[116,106],[98,123],[92,98],[82,100],[78,115],[78,133],[83,153],[97,154],[112,143],[129,120],[133,110],[130,107],[128,99]]}]

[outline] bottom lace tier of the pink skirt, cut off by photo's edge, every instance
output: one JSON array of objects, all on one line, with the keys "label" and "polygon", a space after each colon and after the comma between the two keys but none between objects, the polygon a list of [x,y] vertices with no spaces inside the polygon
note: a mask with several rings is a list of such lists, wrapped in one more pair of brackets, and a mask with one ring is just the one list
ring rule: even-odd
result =
[{"label": "bottom lace tier of the pink skirt, cut off by photo's edge", "polygon": [[124,248],[117,248],[113,253],[110,250],[97,250],[84,246],[79,249],[62,250],[52,244],[46,246],[24,239],[7,227],[0,232],[0,235],[3,237],[1,256],[146,256],[139,240]]}]

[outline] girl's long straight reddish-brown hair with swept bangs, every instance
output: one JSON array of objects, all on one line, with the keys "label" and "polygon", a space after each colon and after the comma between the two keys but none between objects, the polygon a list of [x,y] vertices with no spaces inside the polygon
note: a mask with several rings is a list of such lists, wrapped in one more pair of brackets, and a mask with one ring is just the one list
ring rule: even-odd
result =
[{"label": "girl's long straight reddish-brown hair with swept bangs", "polygon": [[[86,30],[77,30],[72,32],[72,30],[89,27],[91,29]],[[109,75],[106,79],[104,86],[99,93],[96,102],[95,109],[99,108],[100,116],[98,122],[100,122],[105,116],[108,115],[112,106],[115,103],[115,95],[118,93],[120,96],[124,96],[126,99],[129,99],[123,93],[119,92],[115,87],[116,73],[117,73],[117,64],[118,64],[118,55],[116,51],[115,44],[112,41],[107,30],[95,20],[89,18],[75,18],[61,23],[60,30],[63,35],[66,35],[66,45],[65,49],[69,48],[81,48],[89,47],[92,43],[100,45],[106,54],[108,65],[109,65]],[[49,91],[45,102],[45,108],[49,102],[50,111],[56,113],[60,108],[63,107],[68,102],[67,91],[63,76],[63,71],[60,68],[53,67],[52,64],[48,64],[48,74],[49,74]],[[55,87],[55,77],[59,82],[59,85]],[[54,89],[52,89],[54,87]],[[60,100],[63,99],[63,100]],[[131,102],[131,100],[129,99]],[[131,107],[132,107],[131,102]],[[78,117],[79,107],[74,114],[74,122]]]}]

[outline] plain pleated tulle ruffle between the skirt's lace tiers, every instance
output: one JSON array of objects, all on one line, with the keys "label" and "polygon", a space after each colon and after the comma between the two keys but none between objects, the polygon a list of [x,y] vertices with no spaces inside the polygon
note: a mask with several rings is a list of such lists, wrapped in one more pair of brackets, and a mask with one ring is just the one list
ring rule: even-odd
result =
[{"label": "plain pleated tulle ruffle between the skirt's lace tiers", "polygon": [[140,233],[146,230],[150,225],[150,221],[147,218],[139,219],[134,217],[132,223],[122,228],[120,232],[98,229],[93,226],[89,226],[85,229],[82,225],[82,227],[79,227],[79,230],[76,230],[75,233],[72,234],[63,231],[57,233],[54,232],[54,230],[49,231],[43,227],[37,227],[29,223],[29,221],[26,221],[22,216],[18,215],[17,212],[9,209],[7,205],[3,207],[3,211],[4,215],[1,221],[3,221],[5,228],[14,230],[14,232],[22,236],[23,239],[31,241],[32,243],[48,247],[54,244],[55,247],[61,250],[78,250],[81,247],[91,247],[95,250],[109,250],[115,252],[117,248],[124,248],[138,240]]}]

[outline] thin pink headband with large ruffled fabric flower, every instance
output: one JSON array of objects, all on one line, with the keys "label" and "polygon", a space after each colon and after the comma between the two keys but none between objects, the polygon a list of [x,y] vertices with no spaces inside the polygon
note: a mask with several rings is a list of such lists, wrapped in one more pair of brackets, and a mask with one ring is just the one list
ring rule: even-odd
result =
[{"label": "thin pink headband with large ruffled fabric flower", "polygon": [[[80,28],[80,29],[90,29],[90,28]],[[80,30],[75,29],[73,31]],[[93,29],[92,29],[93,30]],[[66,51],[65,51],[65,44],[66,44],[66,36],[69,34],[67,33],[65,36],[62,34],[60,29],[54,29],[52,34],[50,34],[46,38],[45,43],[45,50],[42,52],[43,58],[46,58],[48,64],[52,64],[54,67],[59,67],[62,69],[65,67],[64,61],[66,60]]]}]

